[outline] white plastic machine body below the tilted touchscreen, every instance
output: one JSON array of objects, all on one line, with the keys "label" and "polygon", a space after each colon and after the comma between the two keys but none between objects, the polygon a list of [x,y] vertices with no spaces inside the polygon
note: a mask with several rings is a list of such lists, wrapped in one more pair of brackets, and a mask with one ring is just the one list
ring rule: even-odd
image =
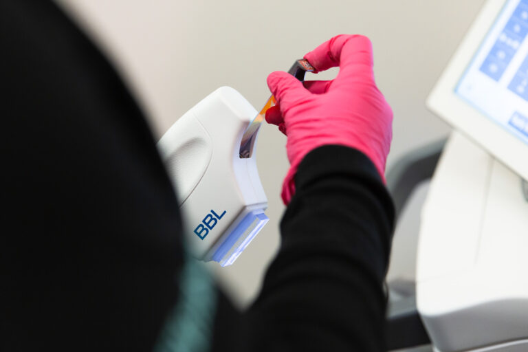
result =
[{"label": "white plastic machine body below the tilted touchscreen", "polygon": [[528,351],[527,250],[520,177],[452,133],[417,252],[417,307],[436,351]]}]

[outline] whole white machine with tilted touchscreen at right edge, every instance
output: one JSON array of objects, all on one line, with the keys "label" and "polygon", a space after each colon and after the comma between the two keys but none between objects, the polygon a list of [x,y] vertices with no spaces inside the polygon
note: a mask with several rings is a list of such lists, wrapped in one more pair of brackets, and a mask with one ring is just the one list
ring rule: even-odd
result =
[{"label": "whole white machine with tilted touchscreen at right edge", "polygon": [[528,351],[528,79],[516,83],[527,34],[528,0],[487,0],[428,98],[456,130],[417,252],[417,307],[436,351]]}]

